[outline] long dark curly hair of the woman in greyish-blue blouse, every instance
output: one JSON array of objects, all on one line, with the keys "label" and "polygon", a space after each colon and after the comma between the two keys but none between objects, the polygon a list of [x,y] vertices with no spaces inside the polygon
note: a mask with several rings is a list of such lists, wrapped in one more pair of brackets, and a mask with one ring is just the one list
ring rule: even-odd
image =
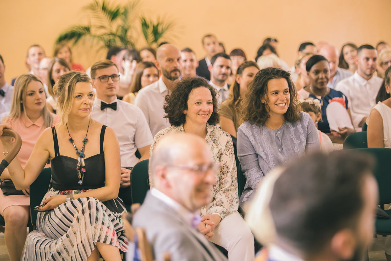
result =
[{"label": "long dark curly hair of the woman in greyish-blue blouse", "polygon": [[[267,83],[273,79],[285,79],[288,83],[291,101],[287,112],[284,114],[286,121],[294,122],[300,120],[300,107],[297,101],[297,92],[291,80],[291,74],[279,68],[267,67],[260,70],[248,85],[248,92],[242,101],[242,118],[251,124],[265,125],[269,119],[270,108],[267,105]],[[264,97],[265,103],[261,102]]]}]

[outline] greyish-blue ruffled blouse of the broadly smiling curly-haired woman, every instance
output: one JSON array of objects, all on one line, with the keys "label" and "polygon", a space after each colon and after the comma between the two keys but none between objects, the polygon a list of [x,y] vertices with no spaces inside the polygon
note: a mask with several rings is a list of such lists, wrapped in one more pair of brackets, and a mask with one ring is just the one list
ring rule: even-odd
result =
[{"label": "greyish-blue ruffled blouse of the broadly smiling curly-haired woman", "polygon": [[255,192],[256,183],[267,173],[292,158],[300,157],[307,150],[319,150],[319,137],[314,122],[306,112],[301,119],[285,123],[276,130],[248,121],[240,125],[237,133],[237,154],[247,181],[241,206]]}]

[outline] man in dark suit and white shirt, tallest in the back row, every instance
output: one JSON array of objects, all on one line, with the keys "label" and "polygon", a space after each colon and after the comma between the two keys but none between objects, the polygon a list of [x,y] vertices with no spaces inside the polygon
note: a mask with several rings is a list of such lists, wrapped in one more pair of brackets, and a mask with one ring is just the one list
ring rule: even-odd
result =
[{"label": "man in dark suit and white shirt, tallest in the back row", "polygon": [[197,67],[197,75],[200,77],[204,77],[206,80],[210,81],[210,60],[212,56],[219,53],[219,42],[217,38],[213,34],[206,34],[202,38],[202,47],[206,52],[206,56],[204,59],[198,61]]}]

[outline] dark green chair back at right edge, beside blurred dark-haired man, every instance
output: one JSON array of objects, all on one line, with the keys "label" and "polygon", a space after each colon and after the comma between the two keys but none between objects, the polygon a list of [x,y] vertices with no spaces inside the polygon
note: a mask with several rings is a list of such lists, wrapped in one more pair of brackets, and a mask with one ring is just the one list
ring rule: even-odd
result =
[{"label": "dark green chair back at right edge, beside blurred dark-haired man", "polygon": [[376,166],[373,174],[375,174],[375,178],[379,187],[378,205],[389,204],[391,202],[391,169],[389,166],[391,149],[363,148],[354,149],[354,151],[371,154],[376,159]]}]

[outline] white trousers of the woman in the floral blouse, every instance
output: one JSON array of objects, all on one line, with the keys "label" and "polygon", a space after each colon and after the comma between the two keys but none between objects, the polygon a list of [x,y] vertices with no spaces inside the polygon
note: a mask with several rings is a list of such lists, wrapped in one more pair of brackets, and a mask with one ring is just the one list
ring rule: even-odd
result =
[{"label": "white trousers of the woman in the floral blouse", "polygon": [[215,227],[213,233],[210,241],[228,251],[228,260],[254,260],[254,236],[238,212],[224,217]]}]

